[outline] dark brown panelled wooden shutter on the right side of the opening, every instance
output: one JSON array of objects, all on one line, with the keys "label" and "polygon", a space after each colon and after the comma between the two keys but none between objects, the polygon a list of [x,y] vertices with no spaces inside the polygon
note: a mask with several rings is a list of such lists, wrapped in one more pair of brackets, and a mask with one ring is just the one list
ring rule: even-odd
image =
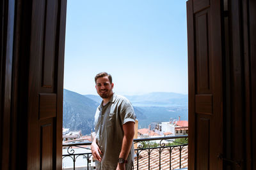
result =
[{"label": "dark brown panelled wooden shutter on the right side of the opening", "polygon": [[189,169],[222,169],[221,1],[189,0]]}]

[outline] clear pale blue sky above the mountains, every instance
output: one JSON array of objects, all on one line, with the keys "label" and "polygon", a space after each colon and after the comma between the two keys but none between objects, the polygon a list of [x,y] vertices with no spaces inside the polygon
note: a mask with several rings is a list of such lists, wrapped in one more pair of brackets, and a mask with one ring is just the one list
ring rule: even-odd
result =
[{"label": "clear pale blue sky above the mountains", "polygon": [[68,0],[64,88],[106,71],[118,94],[188,94],[186,29],[186,0]]}]

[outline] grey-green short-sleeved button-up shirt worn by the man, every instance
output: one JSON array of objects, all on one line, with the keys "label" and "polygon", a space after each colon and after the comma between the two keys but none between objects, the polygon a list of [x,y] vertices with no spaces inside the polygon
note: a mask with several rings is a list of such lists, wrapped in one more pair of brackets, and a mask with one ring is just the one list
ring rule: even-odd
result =
[{"label": "grey-green short-sleeved button-up shirt worn by the man", "polygon": [[[95,138],[102,155],[101,162],[96,160],[97,170],[116,169],[118,157],[122,149],[124,131],[122,125],[135,122],[135,113],[131,103],[125,97],[113,94],[108,104],[103,102],[95,113]],[[127,158],[126,169],[132,169],[134,147]]]}]

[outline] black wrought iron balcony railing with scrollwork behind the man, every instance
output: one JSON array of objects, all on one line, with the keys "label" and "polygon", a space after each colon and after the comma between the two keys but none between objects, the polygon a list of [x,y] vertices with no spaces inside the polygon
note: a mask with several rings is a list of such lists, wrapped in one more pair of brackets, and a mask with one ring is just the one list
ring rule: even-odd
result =
[{"label": "black wrought iron balcony railing with scrollwork behind the man", "polygon": [[[183,141],[180,140],[182,138]],[[152,167],[159,167],[159,169],[188,167],[188,135],[140,138],[133,141],[135,148],[134,169],[140,169],[141,166],[147,166],[148,169],[152,169]],[[63,144],[62,159],[68,158],[72,162],[69,167],[64,164],[63,169],[78,169],[79,166],[83,169],[84,167],[87,167],[88,170],[93,169],[91,144],[92,142]],[[84,149],[83,152],[81,152],[81,148]],[[76,165],[77,159],[83,161],[84,164]]]}]

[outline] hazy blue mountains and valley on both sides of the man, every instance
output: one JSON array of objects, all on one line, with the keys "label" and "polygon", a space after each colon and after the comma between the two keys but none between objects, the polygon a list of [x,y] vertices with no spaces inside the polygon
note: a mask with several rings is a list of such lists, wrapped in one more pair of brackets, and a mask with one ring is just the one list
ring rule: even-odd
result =
[{"label": "hazy blue mountains and valley on both sides of the man", "polygon": [[[125,96],[134,106],[139,128],[151,122],[168,122],[170,118],[188,120],[188,95],[152,92],[141,96]],[[81,95],[64,89],[63,127],[81,130],[83,135],[94,129],[95,110],[102,99],[95,95]]]}]

